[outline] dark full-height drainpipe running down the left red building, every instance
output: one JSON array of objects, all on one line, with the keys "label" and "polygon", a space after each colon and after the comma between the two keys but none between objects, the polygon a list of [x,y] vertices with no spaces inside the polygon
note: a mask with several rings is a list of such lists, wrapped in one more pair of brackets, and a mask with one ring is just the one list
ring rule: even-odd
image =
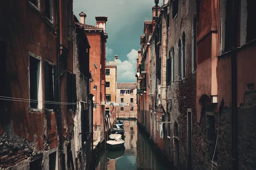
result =
[{"label": "dark full-height drainpipe running down the left red building", "polygon": [[64,162],[63,162],[63,145],[62,145],[62,116],[61,116],[61,74],[60,74],[60,7],[59,7],[59,0],[56,0],[56,22],[57,22],[57,29],[56,29],[56,33],[57,33],[57,62],[58,62],[58,117],[59,117],[59,156],[60,156],[60,162],[61,162],[61,170],[63,170],[64,167]]}]

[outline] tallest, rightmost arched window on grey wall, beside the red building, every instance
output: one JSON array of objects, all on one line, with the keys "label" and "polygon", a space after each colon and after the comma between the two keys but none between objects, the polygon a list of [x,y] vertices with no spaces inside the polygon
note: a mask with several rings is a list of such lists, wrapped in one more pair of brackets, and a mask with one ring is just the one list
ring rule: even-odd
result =
[{"label": "tallest, rightmost arched window on grey wall, beside the red building", "polygon": [[193,19],[193,30],[192,30],[192,71],[196,68],[196,17]]}]

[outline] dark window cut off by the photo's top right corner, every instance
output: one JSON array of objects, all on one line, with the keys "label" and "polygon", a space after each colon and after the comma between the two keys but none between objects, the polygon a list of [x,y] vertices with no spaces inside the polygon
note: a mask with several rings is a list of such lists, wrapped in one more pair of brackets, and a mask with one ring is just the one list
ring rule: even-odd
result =
[{"label": "dark window cut off by the photo's top right corner", "polygon": [[246,27],[246,42],[256,39],[256,24],[255,24],[255,0],[247,0],[247,27]]}]

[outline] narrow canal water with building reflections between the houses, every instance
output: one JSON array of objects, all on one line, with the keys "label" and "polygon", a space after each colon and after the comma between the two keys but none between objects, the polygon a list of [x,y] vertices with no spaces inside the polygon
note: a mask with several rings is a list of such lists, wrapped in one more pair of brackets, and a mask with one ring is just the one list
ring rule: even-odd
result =
[{"label": "narrow canal water with building reflections between the houses", "polygon": [[137,121],[125,120],[125,147],[118,151],[103,150],[96,160],[96,170],[170,170],[149,141]]}]

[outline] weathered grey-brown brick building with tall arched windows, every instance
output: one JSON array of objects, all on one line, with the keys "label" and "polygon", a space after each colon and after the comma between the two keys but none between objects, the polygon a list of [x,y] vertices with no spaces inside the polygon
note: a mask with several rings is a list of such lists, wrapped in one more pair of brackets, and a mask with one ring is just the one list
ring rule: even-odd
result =
[{"label": "weathered grey-brown brick building with tall arched windows", "polygon": [[[189,169],[192,159],[191,122],[195,119],[195,65],[196,48],[192,45],[194,37],[193,21],[196,12],[194,0],[169,1],[166,54],[166,113],[169,136],[169,159],[175,167]],[[196,31],[196,30],[195,30]],[[174,136],[171,138],[171,136]],[[166,141],[167,142],[167,141]]]}]

